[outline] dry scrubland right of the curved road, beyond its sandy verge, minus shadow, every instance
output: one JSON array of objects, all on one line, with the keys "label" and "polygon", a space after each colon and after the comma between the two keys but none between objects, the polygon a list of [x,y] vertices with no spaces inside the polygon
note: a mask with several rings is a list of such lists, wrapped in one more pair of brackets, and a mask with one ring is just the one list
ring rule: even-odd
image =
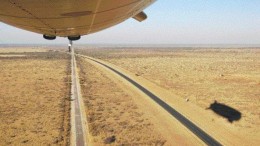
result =
[{"label": "dry scrubland right of the curved road, beyond its sandy verge, minus shadow", "polygon": [[252,139],[260,136],[260,49],[86,49],[206,110],[214,101],[242,113],[224,124]]}]

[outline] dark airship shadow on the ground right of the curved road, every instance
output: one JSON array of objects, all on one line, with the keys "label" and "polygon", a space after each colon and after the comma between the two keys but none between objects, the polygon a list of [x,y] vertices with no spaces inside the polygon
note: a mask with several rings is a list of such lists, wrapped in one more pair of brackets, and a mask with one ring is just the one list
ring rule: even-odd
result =
[{"label": "dark airship shadow on the ground right of the curved road", "polygon": [[217,101],[212,103],[207,109],[211,109],[216,114],[226,118],[230,123],[239,121],[242,115],[238,110]]}]

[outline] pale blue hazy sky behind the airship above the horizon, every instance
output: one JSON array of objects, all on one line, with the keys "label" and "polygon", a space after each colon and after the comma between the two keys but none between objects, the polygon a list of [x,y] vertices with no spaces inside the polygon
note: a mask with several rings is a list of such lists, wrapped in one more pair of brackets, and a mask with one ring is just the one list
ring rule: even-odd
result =
[{"label": "pale blue hazy sky behind the airship above the horizon", "polygon": [[[260,0],[157,0],[148,20],[129,19],[82,37],[84,44],[260,44]],[[68,43],[0,23],[0,44]]]}]

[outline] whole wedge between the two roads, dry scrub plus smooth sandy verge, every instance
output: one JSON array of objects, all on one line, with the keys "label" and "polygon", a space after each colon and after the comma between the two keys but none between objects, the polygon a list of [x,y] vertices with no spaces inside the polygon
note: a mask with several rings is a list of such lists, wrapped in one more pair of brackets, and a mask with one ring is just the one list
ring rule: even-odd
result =
[{"label": "whole wedge between the two roads, dry scrub plus smooth sandy verge", "polygon": [[89,60],[77,62],[93,145],[202,144],[131,85]]}]

